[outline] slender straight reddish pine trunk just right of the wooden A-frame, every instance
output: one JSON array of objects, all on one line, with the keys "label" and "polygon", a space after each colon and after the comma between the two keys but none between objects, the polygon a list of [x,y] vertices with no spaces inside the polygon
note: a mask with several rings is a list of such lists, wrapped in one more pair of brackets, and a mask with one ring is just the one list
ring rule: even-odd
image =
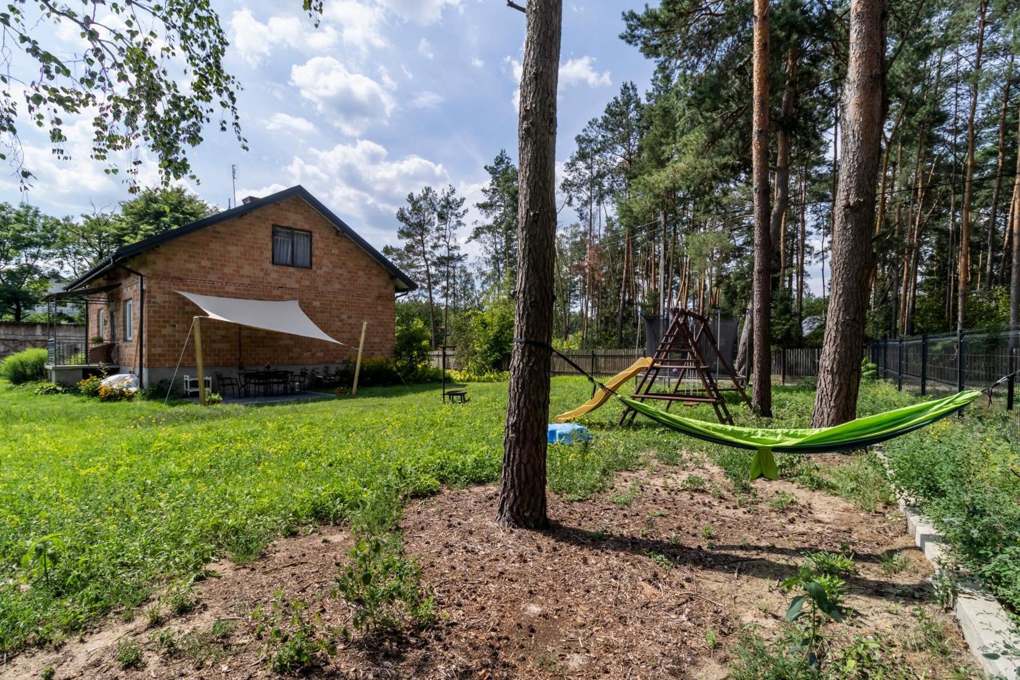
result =
[{"label": "slender straight reddish pine trunk just right of the wooden A-frame", "polygon": [[772,311],[772,234],[768,191],[768,0],[755,0],[754,107],[751,163],[755,215],[754,391],[759,414],[772,416],[772,357],[769,317]]}]

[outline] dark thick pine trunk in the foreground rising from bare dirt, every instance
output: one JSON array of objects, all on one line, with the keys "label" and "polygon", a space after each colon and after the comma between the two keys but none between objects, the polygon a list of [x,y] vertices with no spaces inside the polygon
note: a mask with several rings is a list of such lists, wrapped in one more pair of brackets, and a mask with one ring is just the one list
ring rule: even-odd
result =
[{"label": "dark thick pine trunk in the foreground rising from bare dirt", "polygon": [[546,516],[546,424],[549,420],[556,252],[556,87],[562,0],[528,0],[520,80],[517,285],[510,360],[503,481],[497,521],[524,528]]}]

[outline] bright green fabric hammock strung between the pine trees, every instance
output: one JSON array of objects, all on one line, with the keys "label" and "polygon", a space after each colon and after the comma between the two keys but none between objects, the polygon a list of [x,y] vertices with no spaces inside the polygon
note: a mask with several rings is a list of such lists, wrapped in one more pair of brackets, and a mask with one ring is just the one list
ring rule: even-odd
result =
[{"label": "bright green fabric hammock strung between the pine trees", "polygon": [[618,398],[639,414],[685,435],[704,439],[714,444],[735,446],[758,451],[751,465],[751,479],[766,477],[778,479],[773,451],[780,453],[835,453],[864,448],[869,444],[899,437],[960,410],[981,396],[973,390],[960,392],[944,399],[923,401],[884,414],[859,418],[850,423],[830,428],[743,428],[735,425],[718,425],[674,416],[644,401],[619,396]]}]

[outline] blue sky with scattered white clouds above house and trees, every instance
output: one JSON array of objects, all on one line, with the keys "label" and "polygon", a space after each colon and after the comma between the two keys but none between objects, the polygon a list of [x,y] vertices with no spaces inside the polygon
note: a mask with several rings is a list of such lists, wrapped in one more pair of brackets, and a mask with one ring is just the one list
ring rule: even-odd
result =
[{"label": "blue sky with scattered white clouds above house and trees", "polygon": [[[302,184],[381,248],[397,243],[395,213],[408,192],[453,185],[472,204],[484,164],[500,149],[516,158],[525,17],[504,0],[325,0],[317,29],[300,0],[213,4],[231,42],[227,69],[244,87],[238,107],[250,150],[208,129],[189,153],[198,181],[182,184],[219,208],[234,200],[233,164],[238,200]],[[619,39],[621,12],[631,6],[644,2],[564,2],[560,163],[623,82],[649,87],[652,62]],[[46,39],[61,55],[81,51],[69,28]],[[13,168],[3,168],[0,200],[79,215],[130,198],[120,177],[90,159],[89,119],[67,117],[65,127],[71,158],[60,160],[46,135],[21,120],[36,178],[22,193]],[[141,182],[154,184],[144,150],[117,162],[136,158]],[[468,225],[476,217],[472,210]]]}]

